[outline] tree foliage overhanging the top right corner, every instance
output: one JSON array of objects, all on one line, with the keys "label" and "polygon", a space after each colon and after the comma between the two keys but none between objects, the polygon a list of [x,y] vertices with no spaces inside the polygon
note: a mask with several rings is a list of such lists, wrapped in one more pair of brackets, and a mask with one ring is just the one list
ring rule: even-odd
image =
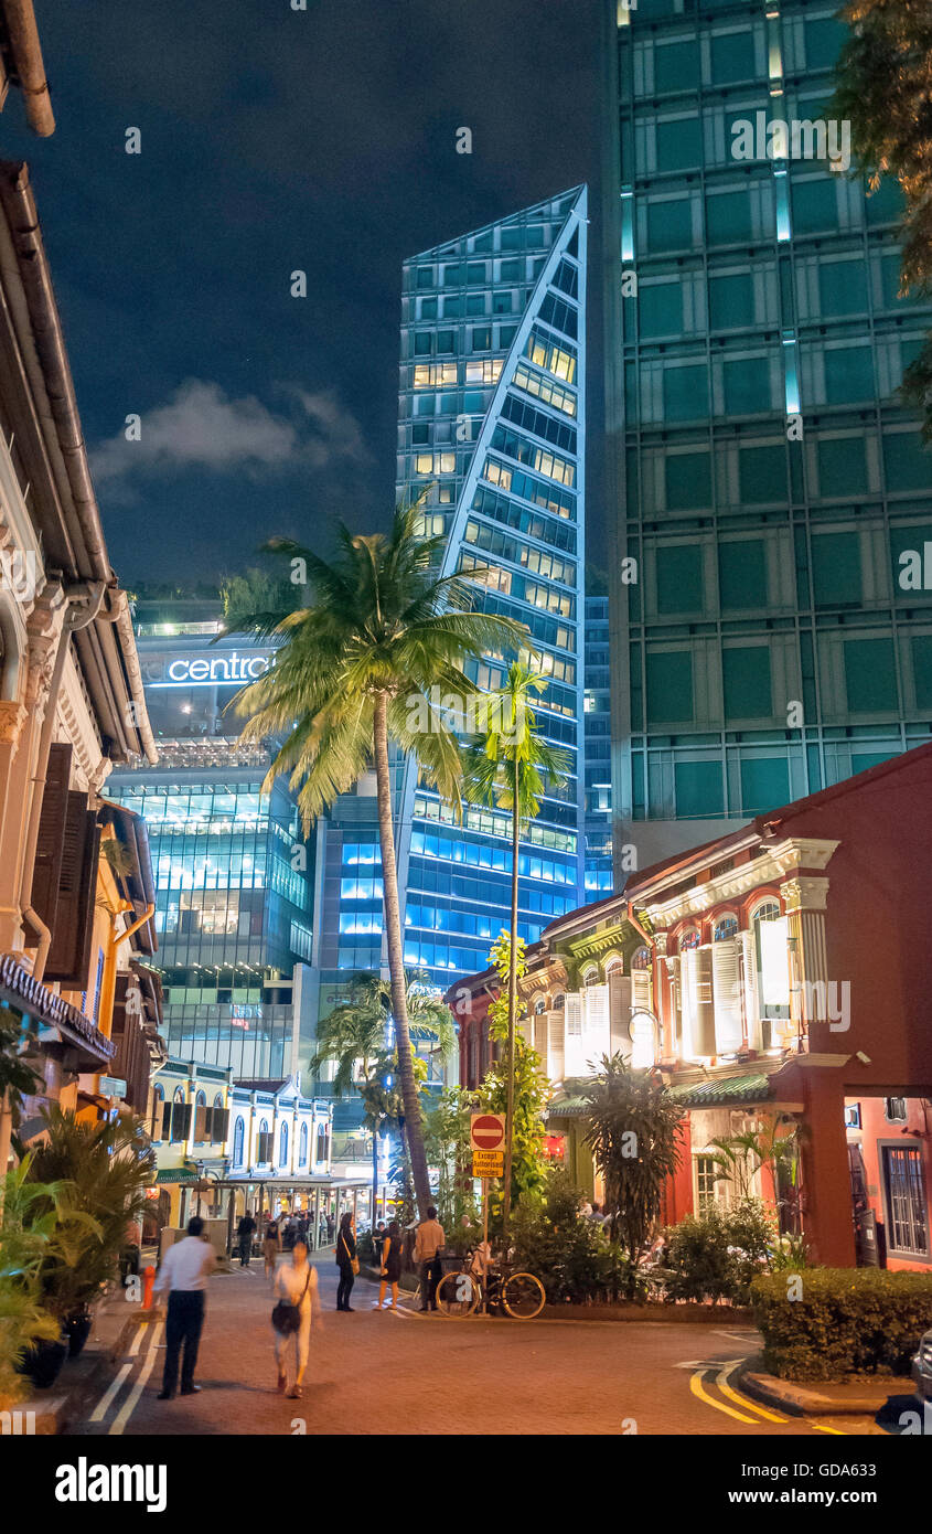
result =
[{"label": "tree foliage overhanging the top right corner", "polygon": [[[932,8],[929,0],[851,0],[832,117],[851,123],[855,173],[872,190],[892,176],[903,192],[900,295],[932,290]],[[828,115],[828,114],[826,114]],[[932,331],[903,377],[932,442]]]}]

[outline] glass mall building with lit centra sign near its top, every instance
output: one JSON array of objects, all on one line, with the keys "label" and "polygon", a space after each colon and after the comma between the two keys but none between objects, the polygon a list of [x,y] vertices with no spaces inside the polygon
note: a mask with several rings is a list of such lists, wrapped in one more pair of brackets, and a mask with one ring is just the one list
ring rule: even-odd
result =
[{"label": "glass mall building with lit centra sign near its top", "polygon": [[313,854],[287,779],[262,793],[268,749],[227,712],[273,652],[218,640],[219,604],[193,607],[136,626],[159,761],[113,773],[107,795],[149,827],[170,1054],[290,1075],[314,1039]]}]

